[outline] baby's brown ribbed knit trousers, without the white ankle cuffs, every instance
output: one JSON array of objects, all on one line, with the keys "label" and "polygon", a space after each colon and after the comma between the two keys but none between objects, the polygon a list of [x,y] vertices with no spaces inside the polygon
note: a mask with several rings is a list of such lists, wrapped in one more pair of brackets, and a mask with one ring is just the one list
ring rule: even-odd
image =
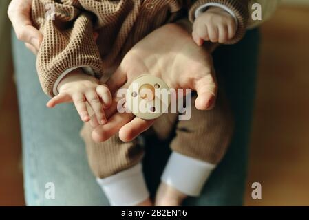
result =
[{"label": "baby's brown ribbed knit trousers, without the white ankle cuffs", "polygon": [[[171,141],[173,151],[217,164],[233,135],[231,111],[221,92],[211,111],[195,109],[195,98],[192,100],[191,120],[178,121],[177,114],[165,113],[156,120],[153,130],[160,138],[166,139],[175,128],[176,134]],[[85,124],[81,136],[85,141],[89,166],[96,177],[103,179],[115,175],[142,160],[144,148],[137,140],[122,142],[117,134],[105,142],[96,143],[92,140],[92,131],[92,127]]]}]

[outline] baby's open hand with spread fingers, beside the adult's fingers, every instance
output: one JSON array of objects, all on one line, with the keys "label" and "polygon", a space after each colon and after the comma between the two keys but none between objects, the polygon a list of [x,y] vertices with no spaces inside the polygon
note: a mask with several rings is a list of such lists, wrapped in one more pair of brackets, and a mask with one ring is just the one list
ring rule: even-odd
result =
[{"label": "baby's open hand with spread fingers, beside the adult's fingers", "polygon": [[111,105],[111,93],[107,86],[100,85],[93,76],[84,74],[81,69],[76,69],[67,74],[58,85],[59,94],[54,96],[47,107],[53,108],[57,104],[74,102],[78,114],[83,122],[90,120],[86,101],[92,107],[100,124],[105,124],[107,119],[103,109]]}]

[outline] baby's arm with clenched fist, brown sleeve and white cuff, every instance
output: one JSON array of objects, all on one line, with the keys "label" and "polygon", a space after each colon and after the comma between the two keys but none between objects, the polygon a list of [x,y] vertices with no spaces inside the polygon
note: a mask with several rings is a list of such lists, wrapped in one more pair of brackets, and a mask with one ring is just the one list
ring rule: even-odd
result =
[{"label": "baby's arm with clenched fist, brown sleeve and white cuff", "polygon": [[192,36],[198,45],[204,41],[235,44],[246,33],[251,0],[198,0],[189,8]]}]

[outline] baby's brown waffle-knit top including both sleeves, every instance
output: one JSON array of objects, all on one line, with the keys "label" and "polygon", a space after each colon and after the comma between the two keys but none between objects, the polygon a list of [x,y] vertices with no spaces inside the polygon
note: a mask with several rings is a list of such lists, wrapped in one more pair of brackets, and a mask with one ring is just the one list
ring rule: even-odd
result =
[{"label": "baby's brown waffle-knit top including both sleeves", "polygon": [[183,17],[182,9],[193,21],[195,10],[211,2],[231,8],[239,21],[237,34],[228,43],[242,39],[248,0],[33,0],[32,20],[44,36],[36,60],[43,91],[54,96],[56,80],[74,67],[91,67],[100,78],[147,34]]}]

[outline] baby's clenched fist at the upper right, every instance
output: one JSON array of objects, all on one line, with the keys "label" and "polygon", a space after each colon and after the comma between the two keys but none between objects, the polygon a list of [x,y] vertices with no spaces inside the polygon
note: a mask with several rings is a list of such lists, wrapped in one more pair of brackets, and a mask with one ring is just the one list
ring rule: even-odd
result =
[{"label": "baby's clenched fist at the upper right", "polygon": [[236,21],[231,14],[218,7],[211,7],[200,14],[193,23],[193,40],[201,46],[204,41],[226,43],[236,33]]}]

